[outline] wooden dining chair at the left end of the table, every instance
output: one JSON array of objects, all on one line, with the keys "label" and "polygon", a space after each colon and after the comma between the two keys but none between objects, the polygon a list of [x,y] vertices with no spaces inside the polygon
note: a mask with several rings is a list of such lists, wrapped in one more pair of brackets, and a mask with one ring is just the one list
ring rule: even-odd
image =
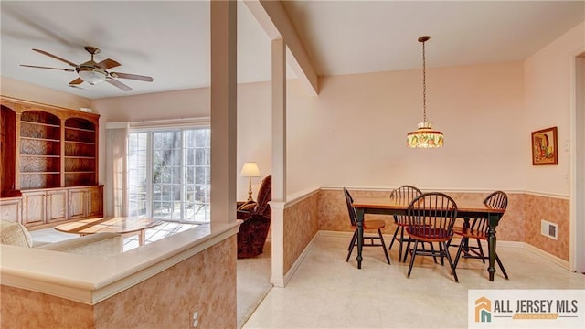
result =
[{"label": "wooden dining chair at the left end of the table", "polygon": [[[354,228],[354,235],[349,242],[349,246],[347,247],[347,258],[346,261],[349,261],[351,257],[351,253],[354,251],[354,247],[357,245],[357,213],[356,208],[353,206],[354,199],[347,191],[346,187],[344,187],[344,195],[346,196],[346,204],[347,204],[347,212],[349,213],[349,222],[351,227]],[[384,254],[386,255],[386,261],[388,264],[390,263],[390,257],[388,256],[388,250],[386,249],[386,243],[384,243],[384,237],[382,236],[382,228],[386,227],[386,223],[384,220],[379,219],[368,219],[364,218],[362,223],[362,227],[364,228],[364,243],[362,246],[364,247],[382,247],[384,249]],[[372,234],[371,231],[376,230],[378,234]],[[369,240],[369,243],[366,243],[366,240]],[[379,243],[374,243],[375,240],[379,240]]]}]

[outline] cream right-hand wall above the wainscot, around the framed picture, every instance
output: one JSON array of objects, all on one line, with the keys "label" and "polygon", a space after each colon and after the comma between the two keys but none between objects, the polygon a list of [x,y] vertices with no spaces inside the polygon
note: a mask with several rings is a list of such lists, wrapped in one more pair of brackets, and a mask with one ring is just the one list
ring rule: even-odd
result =
[{"label": "cream right-hand wall above the wainscot, around the framed picture", "polygon": [[533,166],[530,160],[524,164],[528,191],[569,196],[570,159],[565,143],[570,137],[570,65],[584,47],[585,23],[581,23],[525,61],[527,116],[522,126],[527,136],[557,126],[559,151],[558,165]]}]

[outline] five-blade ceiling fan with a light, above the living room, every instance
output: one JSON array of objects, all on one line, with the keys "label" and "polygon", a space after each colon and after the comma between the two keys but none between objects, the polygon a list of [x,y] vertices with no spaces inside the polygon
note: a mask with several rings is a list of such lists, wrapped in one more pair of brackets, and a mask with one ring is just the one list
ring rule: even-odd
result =
[{"label": "five-blade ceiling fan with a light, above the living room", "polygon": [[148,76],[143,76],[143,75],[138,75],[138,74],[121,73],[121,72],[109,72],[108,69],[118,67],[121,64],[113,59],[110,59],[110,58],[104,59],[101,62],[96,63],[93,60],[93,56],[95,54],[100,53],[100,48],[86,46],[85,50],[87,50],[91,54],[91,59],[86,61],[85,63],[81,63],[79,65],[75,64],[67,59],[59,58],[58,56],[50,54],[45,50],[40,50],[40,49],[33,49],[33,50],[37,51],[38,53],[41,53],[43,55],[46,55],[50,58],[55,58],[55,59],[58,59],[62,62],[65,62],[75,69],[49,68],[49,67],[41,67],[41,66],[25,65],[25,64],[20,64],[20,66],[27,67],[27,68],[58,69],[58,70],[64,70],[66,72],[77,72],[79,74],[79,78],[69,82],[69,86],[71,86],[71,87],[80,85],[83,82],[88,82],[90,85],[97,85],[97,84],[100,84],[100,83],[106,81],[106,82],[110,83],[112,86],[118,87],[121,90],[131,91],[132,88],[130,88],[129,86],[123,84],[122,82],[120,82],[119,80],[116,80],[116,79],[118,79],[118,78],[132,79],[132,80],[140,80],[140,81],[146,81],[146,82],[153,81],[153,78],[148,77]]}]

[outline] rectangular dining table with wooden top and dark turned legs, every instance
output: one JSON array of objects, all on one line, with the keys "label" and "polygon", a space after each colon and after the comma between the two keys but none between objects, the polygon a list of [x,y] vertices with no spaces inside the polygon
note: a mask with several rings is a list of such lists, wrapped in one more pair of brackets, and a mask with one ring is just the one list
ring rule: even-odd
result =
[{"label": "rectangular dining table with wooden top and dark turned legs", "polygon": [[[494,281],[495,274],[495,228],[500,218],[504,216],[505,209],[485,205],[482,201],[455,200],[457,205],[457,218],[463,218],[463,227],[469,227],[470,218],[487,218],[488,221],[488,249],[489,265],[487,271],[489,280]],[[352,204],[357,213],[357,268],[362,268],[362,248],[364,246],[364,216],[366,214],[378,215],[407,215],[409,201],[391,199],[389,197],[356,197]]]}]

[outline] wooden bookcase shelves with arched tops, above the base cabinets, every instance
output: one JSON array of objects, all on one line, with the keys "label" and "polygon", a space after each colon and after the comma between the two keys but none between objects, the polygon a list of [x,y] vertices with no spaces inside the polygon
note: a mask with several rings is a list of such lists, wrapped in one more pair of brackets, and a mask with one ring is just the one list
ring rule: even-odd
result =
[{"label": "wooden bookcase shelves with arched tops, above the base cabinets", "polygon": [[98,184],[98,114],[7,97],[0,105],[0,196]]}]

